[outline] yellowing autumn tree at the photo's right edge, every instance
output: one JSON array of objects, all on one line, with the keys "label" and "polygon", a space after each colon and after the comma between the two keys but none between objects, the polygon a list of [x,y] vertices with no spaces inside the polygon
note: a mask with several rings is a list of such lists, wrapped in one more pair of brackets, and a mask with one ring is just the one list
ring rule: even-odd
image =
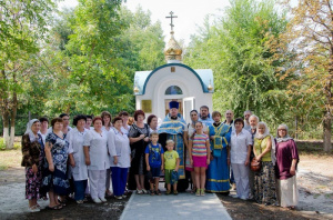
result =
[{"label": "yellowing autumn tree at the photo's right edge", "polygon": [[296,77],[290,82],[290,89],[292,96],[299,98],[301,108],[312,101],[323,112],[323,147],[325,151],[330,151],[333,110],[333,1],[299,0],[295,7],[292,7],[294,2],[291,0],[283,3],[290,9],[291,21],[286,32],[281,34],[278,46],[285,52],[293,51],[293,60],[300,63],[300,68],[289,68],[281,77]]}]

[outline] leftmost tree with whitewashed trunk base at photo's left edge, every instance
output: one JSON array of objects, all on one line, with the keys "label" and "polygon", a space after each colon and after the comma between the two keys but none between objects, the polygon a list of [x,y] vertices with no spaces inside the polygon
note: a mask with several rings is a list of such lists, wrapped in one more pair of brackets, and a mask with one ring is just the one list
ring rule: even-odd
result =
[{"label": "leftmost tree with whitewashed trunk base at photo's left edge", "polygon": [[8,149],[13,146],[19,94],[31,74],[28,61],[39,50],[53,7],[51,0],[0,1],[0,111]]}]

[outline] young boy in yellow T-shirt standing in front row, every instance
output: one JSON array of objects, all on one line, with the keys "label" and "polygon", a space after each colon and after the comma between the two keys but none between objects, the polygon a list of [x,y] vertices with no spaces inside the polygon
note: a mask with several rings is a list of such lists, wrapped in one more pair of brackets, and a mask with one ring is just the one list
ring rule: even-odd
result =
[{"label": "young boy in yellow T-shirt standing in front row", "polygon": [[[174,148],[174,141],[168,140],[167,141],[167,149],[168,151],[164,152],[164,173],[165,173],[165,182],[167,182],[167,192],[165,194],[171,193],[171,173],[172,171],[176,171],[179,169],[179,154],[176,151],[173,150]],[[178,194],[176,191],[176,182],[173,183],[173,194]]]}]

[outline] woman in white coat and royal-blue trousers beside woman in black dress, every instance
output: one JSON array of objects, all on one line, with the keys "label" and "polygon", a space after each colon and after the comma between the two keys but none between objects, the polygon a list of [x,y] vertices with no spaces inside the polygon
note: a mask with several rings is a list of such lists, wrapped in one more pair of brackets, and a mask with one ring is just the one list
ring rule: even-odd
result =
[{"label": "woman in white coat and royal-blue trousers beside woman in black dress", "polygon": [[130,140],[122,132],[122,118],[115,117],[112,121],[113,132],[108,133],[108,148],[112,171],[112,187],[115,199],[125,198],[129,167],[131,167]]}]

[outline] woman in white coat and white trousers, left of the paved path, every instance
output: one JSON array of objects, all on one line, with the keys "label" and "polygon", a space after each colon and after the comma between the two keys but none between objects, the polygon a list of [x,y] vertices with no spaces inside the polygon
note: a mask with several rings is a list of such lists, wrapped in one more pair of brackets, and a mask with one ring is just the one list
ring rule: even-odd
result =
[{"label": "woman in white coat and white trousers, left of the paved path", "polygon": [[85,164],[88,166],[90,196],[93,202],[101,203],[105,200],[105,176],[110,168],[108,156],[108,132],[102,131],[102,118],[92,120],[93,129],[84,136],[83,149]]}]

